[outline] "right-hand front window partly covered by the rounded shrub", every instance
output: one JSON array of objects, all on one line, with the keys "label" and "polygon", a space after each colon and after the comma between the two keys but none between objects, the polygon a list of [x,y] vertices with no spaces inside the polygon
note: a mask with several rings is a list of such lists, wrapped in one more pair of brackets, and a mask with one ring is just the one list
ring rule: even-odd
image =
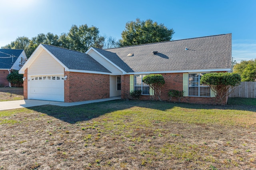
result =
[{"label": "right-hand front window partly covered by the rounded shrub", "polygon": [[210,97],[210,87],[200,83],[200,79],[204,74],[188,74],[188,96]]}]

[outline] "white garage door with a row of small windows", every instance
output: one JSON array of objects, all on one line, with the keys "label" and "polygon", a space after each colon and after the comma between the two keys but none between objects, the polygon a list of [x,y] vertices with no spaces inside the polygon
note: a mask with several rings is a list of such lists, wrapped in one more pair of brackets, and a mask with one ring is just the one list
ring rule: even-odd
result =
[{"label": "white garage door with a row of small windows", "polygon": [[49,101],[64,101],[63,75],[31,76],[28,98]]}]

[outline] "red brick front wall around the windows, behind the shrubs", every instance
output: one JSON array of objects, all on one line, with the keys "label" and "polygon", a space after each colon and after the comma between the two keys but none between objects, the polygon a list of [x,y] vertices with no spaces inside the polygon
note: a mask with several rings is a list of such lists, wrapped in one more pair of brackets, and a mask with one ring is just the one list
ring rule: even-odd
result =
[{"label": "red brick front wall around the windows, behind the shrubs", "polygon": [[[162,87],[161,99],[162,101],[170,101],[168,91],[170,89],[182,91],[183,90],[183,73],[163,73],[164,87]],[[132,99],[130,93],[130,75],[122,75],[122,99]],[[140,100],[151,100],[149,95],[142,95]],[[155,100],[158,100],[155,97]],[[227,99],[226,99],[227,101]],[[226,104],[224,101],[222,104]],[[178,102],[175,97],[172,98],[172,102]],[[214,98],[212,97],[182,97],[180,102],[183,103],[198,103],[198,104],[214,104]]]}]

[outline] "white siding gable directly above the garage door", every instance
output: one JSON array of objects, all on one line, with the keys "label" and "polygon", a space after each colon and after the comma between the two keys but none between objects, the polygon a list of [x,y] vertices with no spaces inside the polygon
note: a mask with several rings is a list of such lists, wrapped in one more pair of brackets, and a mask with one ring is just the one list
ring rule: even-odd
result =
[{"label": "white siding gable directly above the garage door", "polygon": [[28,67],[28,75],[63,75],[64,67],[46,50],[42,50]]}]

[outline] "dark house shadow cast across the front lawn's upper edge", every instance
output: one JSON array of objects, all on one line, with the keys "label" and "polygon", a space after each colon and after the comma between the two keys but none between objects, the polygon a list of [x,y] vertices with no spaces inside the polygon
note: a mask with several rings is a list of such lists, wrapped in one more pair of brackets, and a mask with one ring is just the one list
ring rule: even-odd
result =
[{"label": "dark house shadow cast across the front lawn's upper edge", "polygon": [[256,111],[256,106],[214,106],[214,105],[199,105],[188,103],[169,103],[159,101],[126,101],[115,100],[100,103],[90,103],[86,105],[78,105],[72,107],[60,107],[53,105],[43,105],[37,107],[30,107],[34,111],[45,113],[49,116],[55,117],[68,123],[76,123],[80,121],[88,121],[90,119],[100,117],[107,113],[115,111],[122,111],[132,107],[142,107],[148,109],[155,109],[166,111],[174,107],[182,107],[186,109],[222,109],[222,110],[241,110],[241,111]]}]

